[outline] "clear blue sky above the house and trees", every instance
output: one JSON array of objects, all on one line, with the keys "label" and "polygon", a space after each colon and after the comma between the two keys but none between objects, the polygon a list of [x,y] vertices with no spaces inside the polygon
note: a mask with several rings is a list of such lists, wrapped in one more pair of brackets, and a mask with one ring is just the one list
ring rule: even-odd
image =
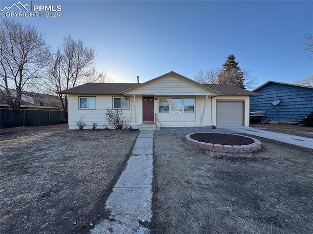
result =
[{"label": "clear blue sky above the house and trees", "polygon": [[[0,8],[17,1],[1,1]],[[22,3],[30,3],[23,1]],[[313,34],[313,1],[36,1],[61,5],[59,18],[31,22],[54,48],[71,35],[94,47],[95,66],[115,82],[169,71],[191,79],[229,54],[259,84],[313,75],[304,36]]]}]

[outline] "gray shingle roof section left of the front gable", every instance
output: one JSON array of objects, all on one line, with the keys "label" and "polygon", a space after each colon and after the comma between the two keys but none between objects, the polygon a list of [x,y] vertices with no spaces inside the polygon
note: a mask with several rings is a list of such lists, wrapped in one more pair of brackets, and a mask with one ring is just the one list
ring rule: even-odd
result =
[{"label": "gray shingle roof section left of the front gable", "polygon": [[67,90],[61,91],[59,93],[69,93],[69,94],[119,94],[125,89],[129,89],[136,85],[137,83],[86,83],[84,85],[79,85]]}]

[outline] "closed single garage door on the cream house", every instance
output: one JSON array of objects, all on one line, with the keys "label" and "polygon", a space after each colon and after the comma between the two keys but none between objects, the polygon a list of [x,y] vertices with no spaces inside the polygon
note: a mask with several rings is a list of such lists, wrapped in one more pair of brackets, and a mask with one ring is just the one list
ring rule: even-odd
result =
[{"label": "closed single garage door on the cream house", "polygon": [[217,126],[243,126],[244,102],[217,102]]}]

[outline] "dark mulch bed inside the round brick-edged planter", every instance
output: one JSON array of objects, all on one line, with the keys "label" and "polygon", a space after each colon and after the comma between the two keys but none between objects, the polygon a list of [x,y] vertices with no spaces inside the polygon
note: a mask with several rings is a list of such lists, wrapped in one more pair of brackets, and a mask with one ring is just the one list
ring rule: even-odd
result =
[{"label": "dark mulch bed inside the round brick-edged planter", "polygon": [[249,145],[254,142],[252,139],[244,136],[220,133],[195,133],[191,134],[190,137],[197,141],[232,146]]}]

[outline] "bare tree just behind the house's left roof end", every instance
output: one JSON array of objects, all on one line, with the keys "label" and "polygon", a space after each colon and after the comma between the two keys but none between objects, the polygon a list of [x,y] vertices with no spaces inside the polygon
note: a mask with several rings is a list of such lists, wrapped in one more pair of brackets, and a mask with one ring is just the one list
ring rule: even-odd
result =
[{"label": "bare tree just behind the house's left roof end", "polygon": [[[94,49],[83,41],[71,36],[63,39],[63,44],[54,54],[53,63],[47,70],[47,84],[54,92],[66,90],[85,83],[90,78]],[[58,94],[63,110],[67,110],[67,95]]]}]

